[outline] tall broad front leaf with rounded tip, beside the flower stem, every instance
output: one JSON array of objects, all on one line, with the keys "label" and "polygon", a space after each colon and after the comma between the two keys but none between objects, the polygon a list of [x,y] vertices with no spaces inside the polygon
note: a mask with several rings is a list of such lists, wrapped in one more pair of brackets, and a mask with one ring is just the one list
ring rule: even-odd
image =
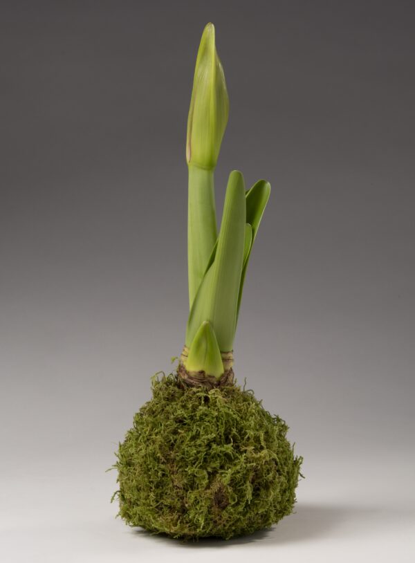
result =
[{"label": "tall broad front leaf with rounded tip, beside the flower stem", "polygon": [[214,261],[203,277],[187,322],[187,347],[201,322],[209,320],[219,349],[232,350],[244,248],[249,253],[249,238],[243,176],[234,170],[229,176]]}]

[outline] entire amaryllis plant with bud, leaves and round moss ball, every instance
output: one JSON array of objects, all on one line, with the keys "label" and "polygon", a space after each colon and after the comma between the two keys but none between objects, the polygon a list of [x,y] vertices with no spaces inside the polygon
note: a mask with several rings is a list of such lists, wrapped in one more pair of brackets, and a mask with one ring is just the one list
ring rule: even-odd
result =
[{"label": "entire amaryllis plant with bud, leaves and round moss ball", "polygon": [[174,373],[154,378],[153,397],[117,452],[119,515],[172,537],[228,539],[293,512],[301,457],[288,427],[234,380],[233,342],[243,282],[270,184],[246,191],[230,173],[219,234],[214,168],[228,92],[214,26],[203,31],[187,122],[190,314]]}]

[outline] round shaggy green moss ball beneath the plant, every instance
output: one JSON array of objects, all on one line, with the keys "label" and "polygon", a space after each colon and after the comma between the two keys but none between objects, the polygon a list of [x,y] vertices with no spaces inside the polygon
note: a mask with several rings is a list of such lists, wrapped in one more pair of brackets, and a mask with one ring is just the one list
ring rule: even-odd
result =
[{"label": "round shaggy green moss ball beneath the plant", "polygon": [[120,443],[119,515],[189,539],[275,524],[293,511],[302,463],[287,430],[252,391],[183,389],[163,376]]}]

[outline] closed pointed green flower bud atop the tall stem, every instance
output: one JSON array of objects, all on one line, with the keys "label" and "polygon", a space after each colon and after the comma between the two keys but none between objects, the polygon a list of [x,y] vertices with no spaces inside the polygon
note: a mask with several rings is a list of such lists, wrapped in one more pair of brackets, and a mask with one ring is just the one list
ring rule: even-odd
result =
[{"label": "closed pointed green flower bud atop the tall stem", "polygon": [[214,44],[214,25],[203,30],[187,119],[187,164],[213,169],[228,122],[225,75]]}]

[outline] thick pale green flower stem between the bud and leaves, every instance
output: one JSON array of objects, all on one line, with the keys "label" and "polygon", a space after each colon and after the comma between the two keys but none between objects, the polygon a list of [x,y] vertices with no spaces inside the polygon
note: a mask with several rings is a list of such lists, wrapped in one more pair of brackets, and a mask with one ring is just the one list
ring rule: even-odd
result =
[{"label": "thick pale green flower stem between the bud and leaves", "polygon": [[187,259],[190,308],[217,239],[214,171],[189,165]]}]

